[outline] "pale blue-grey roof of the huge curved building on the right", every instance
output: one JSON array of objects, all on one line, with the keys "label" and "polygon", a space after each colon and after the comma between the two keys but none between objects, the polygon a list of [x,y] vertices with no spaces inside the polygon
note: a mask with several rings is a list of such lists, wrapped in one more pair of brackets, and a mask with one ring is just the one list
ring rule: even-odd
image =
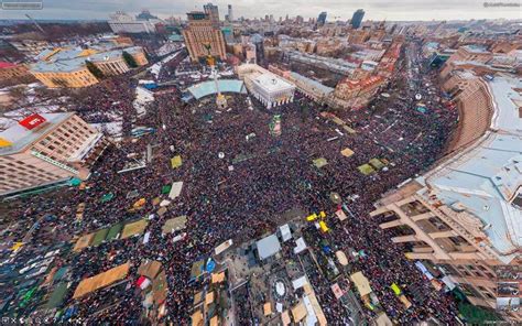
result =
[{"label": "pale blue-grey roof of the huge curved building on the right", "polygon": [[418,194],[436,195],[455,211],[476,217],[499,259],[509,262],[522,246],[522,211],[511,203],[522,185],[522,98],[514,90],[521,82],[501,76],[488,87],[494,101],[494,131],[417,178],[429,187]]}]

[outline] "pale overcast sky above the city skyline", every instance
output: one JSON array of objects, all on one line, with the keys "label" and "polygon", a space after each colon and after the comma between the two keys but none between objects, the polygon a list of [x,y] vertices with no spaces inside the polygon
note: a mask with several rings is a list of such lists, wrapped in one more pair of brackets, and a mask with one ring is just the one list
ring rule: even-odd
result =
[{"label": "pale overcast sky above the city skyline", "polygon": [[[9,0],[3,0],[7,2]],[[37,1],[37,0],[32,0]],[[191,10],[202,10],[209,2],[200,0],[41,0],[43,10],[0,10],[0,19],[25,19],[29,13],[35,19],[108,19],[111,12],[123,10],[138,13],[149,9],[161,18],[183,17]],[[2,0],[0,0],[2,2]],[[501,2],[501,0],[487,0]],[[503,3],[520,3],[522,0],[503,0]],[[469,19],[521,19],[520,7],[485,7],[481,0],[215,0],[221,19],[227,4],[232,4],[236,18],[254,18],[273,14],[280,17],[317,17],[328,12],[327,20],[348,20],[355,10],[366,11],[365,20],[469,20]]]}]

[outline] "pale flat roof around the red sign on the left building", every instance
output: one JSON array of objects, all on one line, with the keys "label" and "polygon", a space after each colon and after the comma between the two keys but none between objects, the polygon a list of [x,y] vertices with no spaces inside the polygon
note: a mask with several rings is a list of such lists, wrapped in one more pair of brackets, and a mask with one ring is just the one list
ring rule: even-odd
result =
[{"label": "pale flat roof around the red sign on the left building", "polygon": [[11,126],[0,132],[3,138],[12,143],[10,146],[0,148],[0,155],[9,155],[24,150],[28,145],[39,140],[42,135],[56,128],[58,123],[67,120],[74,112],[66,113],[41,113],[46,121],[33,130],[28,130],[19,123]]}]

